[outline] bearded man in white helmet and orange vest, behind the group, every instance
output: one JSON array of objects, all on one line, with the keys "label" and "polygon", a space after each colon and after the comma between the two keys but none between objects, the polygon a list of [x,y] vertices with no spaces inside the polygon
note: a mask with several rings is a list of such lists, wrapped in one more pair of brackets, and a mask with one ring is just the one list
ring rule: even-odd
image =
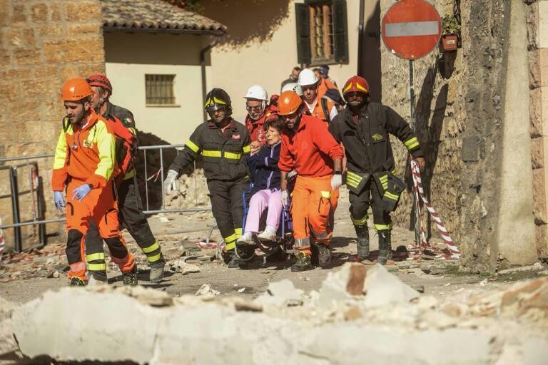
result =
[{"label": "bearded man in white helmet and orange vest, behind the group", "polygon": [[322,98],[323,94],[318,93],[320,80],[315,76],[314,71],[310,68],[300,71],[298,85],[303,93],[303,101],[306,107],[303,109],[304,112],[323,120],[326,124],[330,123],[338,113],[337,107],[334,103]]}]

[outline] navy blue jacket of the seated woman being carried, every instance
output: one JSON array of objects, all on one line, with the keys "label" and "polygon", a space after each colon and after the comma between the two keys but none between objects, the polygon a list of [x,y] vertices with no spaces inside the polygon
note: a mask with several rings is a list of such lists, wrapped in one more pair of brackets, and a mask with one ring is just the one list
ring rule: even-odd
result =
[{"label": "navy blue jacket of the seated woman being carried", "polygon": [[280,189],[281,173],[278,168],[281,141],[272,147],[265,145],[258,153],[248,158],[249,171],[253,179],[251,195],[259,190]]}]

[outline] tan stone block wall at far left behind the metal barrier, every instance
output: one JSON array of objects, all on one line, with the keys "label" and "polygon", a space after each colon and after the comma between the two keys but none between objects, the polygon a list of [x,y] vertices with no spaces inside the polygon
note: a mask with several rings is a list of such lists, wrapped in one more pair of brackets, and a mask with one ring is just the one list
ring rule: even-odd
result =
[{"label": "tan stone block wall at far left behind the metal barrier", "polygon": [[[99,0],[0,1],[0,156],[53,153],[64,110],[59,95],[68,78],[104,72]],[[57,217],[51,203],[51,158],[39,160],[44,178],[46,217]],[[28,170],[19,172],[28,190]],[[11,220],[9,180],[0,170],[0,217]],[[6,196],[7,195],[7,196]],[[21,219],[31,217],[29,194],[21,195]],[[59,229],[48,226],[51,232]],[[27,237],[32,228],[24,230]],[[4,230],[12,245],[13,230]],[[32,240],[25,240],[31,245]]]}]

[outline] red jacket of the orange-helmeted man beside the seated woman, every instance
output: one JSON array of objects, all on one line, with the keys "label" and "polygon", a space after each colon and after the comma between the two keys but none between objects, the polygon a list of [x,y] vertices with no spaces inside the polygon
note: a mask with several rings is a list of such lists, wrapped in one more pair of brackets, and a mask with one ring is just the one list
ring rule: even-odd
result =
[{"label": "red jacket of the orange-helmeted man beside the seated woman", "polygon": [[296,132],[284,129],[278,167],[295,170],[301,176],[333,175],[333,160],[342,158],[342,147],[322,120],[301,115]]}]

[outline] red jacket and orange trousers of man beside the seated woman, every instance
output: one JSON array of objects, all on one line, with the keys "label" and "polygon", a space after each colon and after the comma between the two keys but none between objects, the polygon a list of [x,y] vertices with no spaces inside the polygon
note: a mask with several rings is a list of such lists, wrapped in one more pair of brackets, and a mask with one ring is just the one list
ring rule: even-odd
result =
[{"label": "red jacket and orange trousers of man beside the seated woman", "polygon": [[278,167],[297,171],[291,195],[295,247],[310,255],[310,238],[329,245],[339,190],[331,189],[333,160],[342,159],[342,148],[322,120],[301,115],[295,132],[284,130]]}]

